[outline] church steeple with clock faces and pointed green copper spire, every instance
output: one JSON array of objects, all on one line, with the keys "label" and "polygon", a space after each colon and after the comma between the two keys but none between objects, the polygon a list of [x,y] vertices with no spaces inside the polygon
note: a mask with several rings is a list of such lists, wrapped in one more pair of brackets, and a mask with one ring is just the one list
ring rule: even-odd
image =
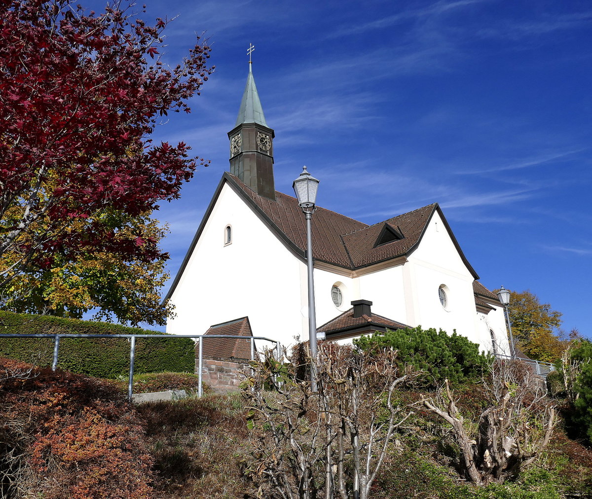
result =
[{"label": "church steeple with clock faces and pointed green copper spire", "polygon": [[[254,47],[249,50],[252,51],[252,48]],[[240,102],[239,115],[234,128],[228,133],[230,173],[257,194],[275,200],[275,134],[265,121],[251,66],[249,61],[249,75]]]}]

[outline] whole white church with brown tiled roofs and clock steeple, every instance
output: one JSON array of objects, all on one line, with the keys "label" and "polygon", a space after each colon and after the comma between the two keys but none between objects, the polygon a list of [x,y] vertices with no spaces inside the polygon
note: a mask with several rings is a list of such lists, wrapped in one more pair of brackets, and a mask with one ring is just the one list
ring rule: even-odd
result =
[{"label": "whole white church with brown tiled roofs and clock steeple", "polygon": [[[166,297],[176,313],[166,330],[233,334],[233,324],[249,324],[282,345],[305,340],[305,218],[297,199],[275,190],[275,134],[250,65],[228,136],[230,173]],[[478,282],[437,203],[371,226],[317,207],[312,231],[317,331],[327,339],[421,325],[509,353],[503,307]]]}]

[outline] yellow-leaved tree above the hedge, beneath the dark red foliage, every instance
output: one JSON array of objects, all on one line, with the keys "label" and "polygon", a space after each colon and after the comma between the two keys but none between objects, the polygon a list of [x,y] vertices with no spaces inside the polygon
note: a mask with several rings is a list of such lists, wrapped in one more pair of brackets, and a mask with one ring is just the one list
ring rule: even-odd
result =
[{"label": "yellow-leaved tree above the hedge, beneath the dark red foliage", "polygon": [[[165,272],[168,254],[160,253],[158,244],[168,227],[150,214],[131,217],[121,211],[103,210],[94,217],[72,221],[63,229],[65,237],[83,232],[81,224],[110,228],[113,236],[107,247],[120,249],[136,244],[144,251],[129,252],[134,256],[126,257],[121,251],[98,249],[92,240],[88,244],[82,241],[75,250],[67,246],[53,249],[46,268],[31,265],[14,276],[2,290],[2,308],[73,318],[92,312],[94,320],[131,326],[141,322],[165,324],[171,307],[161,303],[160,288],[169,277]],[[42,224],[33,229],[36,234],[45,230]],[[1,265],[6,269],[19,259],[17,253],[5,254]]]}]

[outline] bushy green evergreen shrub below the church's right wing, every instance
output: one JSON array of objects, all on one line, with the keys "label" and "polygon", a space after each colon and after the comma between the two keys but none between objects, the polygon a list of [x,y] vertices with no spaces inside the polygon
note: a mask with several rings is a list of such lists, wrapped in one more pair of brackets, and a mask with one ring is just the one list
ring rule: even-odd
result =
[{"label": "bushy green evergreen shrub below the church's right wing", "polygon": [[445,379],[451,384],[477,379],[493,360],[479,352],[477,343],[456,334],[456,330],[449,335],[433,327],[387,330],[386,333],[362,336],[354,340],[354,344],[369,353],[382,348],[398,350],[398,362],[423,371],[427,386],[442,384]]}]

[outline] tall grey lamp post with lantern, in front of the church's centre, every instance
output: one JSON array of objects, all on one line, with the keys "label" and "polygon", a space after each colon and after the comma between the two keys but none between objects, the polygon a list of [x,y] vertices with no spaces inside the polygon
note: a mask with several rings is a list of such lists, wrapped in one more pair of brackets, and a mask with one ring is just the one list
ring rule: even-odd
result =
[{"label": "tall grey lamp post with lantern, in front of the church's centre", "polygon": [[[313,265],[313,236],[311,220],[317,209],[314,205],[317,200],[318,180],[308,173],[306,166],[300,176],[292,183],[292,188],[298,199],[298,206],[302,208],[306,217],[306,259],[308,265],[308,342],[310,344],[310,356],[317,358],[317,317],[314,308],[314,265]],[[314,372],[314,362],[310,366],[310,385],[313,391],[317,391],[317,379]]]}]

